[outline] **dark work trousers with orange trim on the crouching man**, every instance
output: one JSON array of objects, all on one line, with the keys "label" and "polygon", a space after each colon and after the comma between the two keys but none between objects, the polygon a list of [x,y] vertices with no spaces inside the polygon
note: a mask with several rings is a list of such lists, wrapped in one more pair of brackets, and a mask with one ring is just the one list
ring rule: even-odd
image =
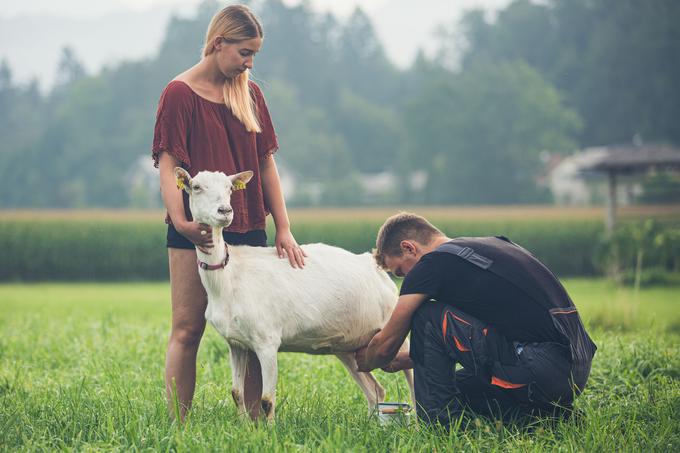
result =
[{"label": "dark work trousers with orange trim on the crouching man", "polygon": [[509,341],[493,326],[430,301],[414,314],[410,356],[417,414],[426,422],[448,426],[462,414],[511,420],[570,412],[568,346]]}]

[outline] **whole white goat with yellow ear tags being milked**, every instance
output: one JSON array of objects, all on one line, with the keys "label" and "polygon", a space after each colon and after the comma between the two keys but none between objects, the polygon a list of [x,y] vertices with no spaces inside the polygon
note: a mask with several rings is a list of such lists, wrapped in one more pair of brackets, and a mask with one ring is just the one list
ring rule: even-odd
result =
[{"label": "whole white goat with yellow ear tags being milked", "polygon": [[[189,194],[194,220],[212,227],[212,252],[196,250],[208,294],[205,317],[229,343],[231,392],[239,412],[246,413],[248,350],[260,361],[261,405],[268,420],[274,417],[278,351],[335,354],[361,387],[369,410],[382,402],[384,389],[373,375],[357,371],[353,352],[385,325],[397,301],[394,282],[370,254],[308,244],[300,270],[277,258],[271,247],[227,249],[222,229],[233,220],[231,193],[243,188],[253,172],[202,171],[192,179],[178,167],[175,175]],[[404,373],[414,401],[412,370]]]}]

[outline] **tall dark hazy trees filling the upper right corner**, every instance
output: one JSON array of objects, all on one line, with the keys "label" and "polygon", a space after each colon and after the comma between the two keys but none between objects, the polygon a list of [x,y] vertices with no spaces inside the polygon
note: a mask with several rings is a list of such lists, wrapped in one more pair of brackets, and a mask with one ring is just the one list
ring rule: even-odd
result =
[{"label": "tall dark hazy trees filling the upper right corner", "polygon": [[583,146],[680,143],[680,3],[676,0],[515,0],[488,22],[468,13],[463,67],[522,59],[584,120]]}]

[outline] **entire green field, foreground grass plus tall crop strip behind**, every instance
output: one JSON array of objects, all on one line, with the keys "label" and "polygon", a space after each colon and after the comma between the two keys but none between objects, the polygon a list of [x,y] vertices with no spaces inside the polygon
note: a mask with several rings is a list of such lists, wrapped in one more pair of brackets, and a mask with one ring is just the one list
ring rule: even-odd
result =
[{"label": "entire green field, foreground grass plus tall crop strip behind", "polygon": [[[507,235],[567,277],[599,346],[578,417],[530,426],[479,419],[449,432],[384,427],[337,359],[280,354],[276,423],[244,423],[229,395],[228,347],[208,326],[194,406],[187,423],[176,424],[163,390],[164,213],[0,211],[0,451],[680,451],[680,286],[636,291],[596,278],[602,208],[408,210],[450,236]],[[361,252],[396,211],[290,214],[301,243]],[[677,229],[680,208],[621,210],[624,224],[650,218]],[[645,263],[675,262],[677,271],[672,247],[680,242],[654,256],[623,240],[633,254],[645,251]],[[401,375],[377,377],[388,400],[408,399]]]}]

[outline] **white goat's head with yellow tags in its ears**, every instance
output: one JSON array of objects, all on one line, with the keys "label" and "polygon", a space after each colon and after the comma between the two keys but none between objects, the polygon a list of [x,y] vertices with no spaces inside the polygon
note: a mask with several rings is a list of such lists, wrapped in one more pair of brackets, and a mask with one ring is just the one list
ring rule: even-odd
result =
[{"label": "white goat's head with yellow tags in its ears", "polygon": [[193,178],[180,167],[175,167],[177,187],[189,194],[189,208],[194,220],[213,227],[228,227],[234,220],[231,193],[244,189],[252,171],[227,176],[219,171],[202,171]]}]

